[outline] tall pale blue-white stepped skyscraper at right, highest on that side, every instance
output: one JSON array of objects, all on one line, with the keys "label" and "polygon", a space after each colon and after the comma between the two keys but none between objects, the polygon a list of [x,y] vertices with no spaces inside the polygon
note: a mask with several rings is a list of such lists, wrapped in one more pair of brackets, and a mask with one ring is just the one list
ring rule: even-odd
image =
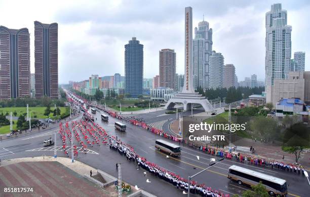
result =
[{"label": "tall pale blue-white stepped skyscraper at right, highest on that side", "polygon": [[292,27],[287,25],[287,11],[282,10],[281,4],[273,4],[271,10],[266,13],[266,86],[273,85],[275,79],[288,78],[291,61],[291,31]]}]

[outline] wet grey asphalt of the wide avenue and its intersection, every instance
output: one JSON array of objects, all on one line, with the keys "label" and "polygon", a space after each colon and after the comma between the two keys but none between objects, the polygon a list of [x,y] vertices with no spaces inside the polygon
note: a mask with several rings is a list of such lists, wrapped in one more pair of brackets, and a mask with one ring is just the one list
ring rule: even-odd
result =
[{"label": "wet grey asphalt of the wide avenue and its intersection", "polygon": [[[186,113],[186,112],[185,112]],[[189,112],[190,113],[190,112]],[[148,114],[149,117],[153,117],[153,120],[157,120],[154,117],[158,117],[156,114]],[[160,114],[159,114],[160,115]],[[175,118],[175,114],[168,115]],[[104,129],[113,135],[117,135],[122,139],[122,141],[130,144],[134,147],[135,151],[142,157],[146,157],[148,161],[154,162],[159,166],[166,168],[181,177],[187,177],[192,175],[209,166],[210,155],[199,152],[198,150],[193,150],[189,147],[182,146],[182,156],[180,158],[167,158],[165,154],[158,152],[154,149],[154,140],[158,139],[159,136],[152,134],[144,129],[137,126],[127,124],[127,131],[120,132],[114,129],[114,122],[118,119],[109,117],[109,122],[102,122],[100,120],[100,112],[95,115],[97,118],[97,123],[99,123]],[[161,116],[159,116],[161,117]],[[119,121],[119,120],[118,120]],[[2,159],[10,158],[20,158],[20,157],[33,157],[42,156],[43,154],[47,156],[53,156],[53,151],[42,151],[38,148],[43,147],[42,141],[48,137],[48,135],[42,135],[44,133],[50,132],[46,130],[38,133],[29,134],[24,137],[16,137],[13,139],[8,139],[0,142],[0,157]],[[38,137],[34,137],[38,136]],[[31,138],[29,138],[31,137]],[[28,138],[28,139],[26,139]],[[58,136],[57,145],[61,145],[60,137]],[[68,144],[69,145],[69,144]],[[37,151],[27,151],[38,149]],[[151,175],[143,174],[143,169],[137,170],[136,166],[132,162],[128,162],[126,157],[119,155],[117,152],[111,151],[108,146],[94,146],[90,148],[92,151],[99,153],[96,154],[79,154],[78,160],[84,162],[94,168],[101,169],[107,173],[117,177],[117,171],[115,170],[115,163],[121,162],[123,169],[123,179],[132,185],[138,185],[146,191],[149,191],[158,196],[179,196],[182,195],[182,191],[176,189],[171,184],[160,180],[159,178],[153,177]],[[3,152],[2,152],[3,151]],[[4,153],[3,155],[1,155]],[[58,156],[64,156],[63,152],[58,152]],[[197,160],[197,156],[200,156],[200,160]],[[214,189],[219,189],[225,193],[238,193],[248,189],[245,186],[239,186],[237,183],[227,179],[227,169],[229,166],[237,164],[239,166],[245,166],[239,162],[224,160],[222,163],[214,166],[210,171],[206,171],[199,176],[195,177],[194,180],[198,183],[205,183]],[[285,173],[282,171],[265,169],[254,166],[246,166],[249,169],[260,171],[269,175],[273,175],[279,178],[286,179],[288,184],[289,193],[292,196],[307,196],[309,191],[309,185],[304,177],[301,175],[295,175],[291,173]],[[145,177],[146,176],[146,177]],[[134,177],[134,178],[133,178]],[[149,179],[151,183],[146,183],[146,179]]]}]

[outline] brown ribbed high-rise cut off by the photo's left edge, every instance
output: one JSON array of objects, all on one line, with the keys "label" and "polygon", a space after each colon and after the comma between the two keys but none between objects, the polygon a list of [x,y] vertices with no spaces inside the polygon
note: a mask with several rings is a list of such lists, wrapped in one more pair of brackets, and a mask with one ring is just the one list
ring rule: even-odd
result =
[{"label": "brown ribbed high-rise cut off by the photo's left edge", "polygon": [[0,26],[0,99],[29,95],[29,31]]}]

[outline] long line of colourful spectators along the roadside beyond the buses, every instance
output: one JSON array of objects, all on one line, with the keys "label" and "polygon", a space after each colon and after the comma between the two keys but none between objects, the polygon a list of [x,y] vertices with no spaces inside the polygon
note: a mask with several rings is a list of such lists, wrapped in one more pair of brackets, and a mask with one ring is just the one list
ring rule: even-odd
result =
[{"label": "long line of colourful spectators along the roadside beyond the buses", "polygon": [[144,129],[146,129],[146,130],[148,130],[154,134],[160,135],[164,138],[167,138],[167,139],[170,139],[173,141],[186,143],[189,146],[191,146],[195,149],[198,149],[198,150],[200,150],[206,154],[214,155],[217,157],[224,157],[224,158],[231,159],[231,160],[238,161],[238,162],[242,162],[242,163],[248,164],[248,165],[269,167],[269,168],[284,170],[286,172],[292,172],[292,173],[296,173],[296,174],[300,174],[300,172],[304,171],[304,168],[302,166],[297,166],[294,164],[288,164],[288,163],[280,162],[280,161],[276,161],[276,160],[270,160],[270,159],[266,159],[266,158],[256,157],[254,155],[240,154],[240,153],[236,153],[236,152],[231,153],[231,151],[225,150],[224,147],[212,147],[212,146],[210,147],[210,146],[206,146],[206,145],[197,145],[195,143],[183,140],[182,138],[179,138],[176,135],[167,133],[167,132],[163,131],[162,129],[157,129],[155,127],[149,126],[145,122],[137,120],[134,116],[123,117],[122,115],[114,113],[110,110],[106,110],[102,107],[100,109],[105,111],[106,113],[108,113],[110,116],[112,116],[114,118],[122,119],[126,122],[129,122],[129,123],[134,124],[136,126],[142,127],[142,128],[144,128]]}]

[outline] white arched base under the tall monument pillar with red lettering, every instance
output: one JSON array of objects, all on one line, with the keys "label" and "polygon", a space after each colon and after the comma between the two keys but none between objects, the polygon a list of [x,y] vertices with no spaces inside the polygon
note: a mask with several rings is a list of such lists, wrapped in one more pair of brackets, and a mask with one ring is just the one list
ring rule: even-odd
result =
[{"label": "white arched base under the tall monument pillar with red lettering", "polygon": [[189,110],[191,109],[192,104],[199,104],[201,105],[205,112],[212,112],[213,108],[210,102],[206,99],[206,97],[202,96],[202,94],[199,94],[198,92],[194,93],[178,93],[174,95],[172,98],[169,99],[167,102],[165,109],[171,109],[173,108],[176,103],[182,103],[183,104],[183,110]]}]

